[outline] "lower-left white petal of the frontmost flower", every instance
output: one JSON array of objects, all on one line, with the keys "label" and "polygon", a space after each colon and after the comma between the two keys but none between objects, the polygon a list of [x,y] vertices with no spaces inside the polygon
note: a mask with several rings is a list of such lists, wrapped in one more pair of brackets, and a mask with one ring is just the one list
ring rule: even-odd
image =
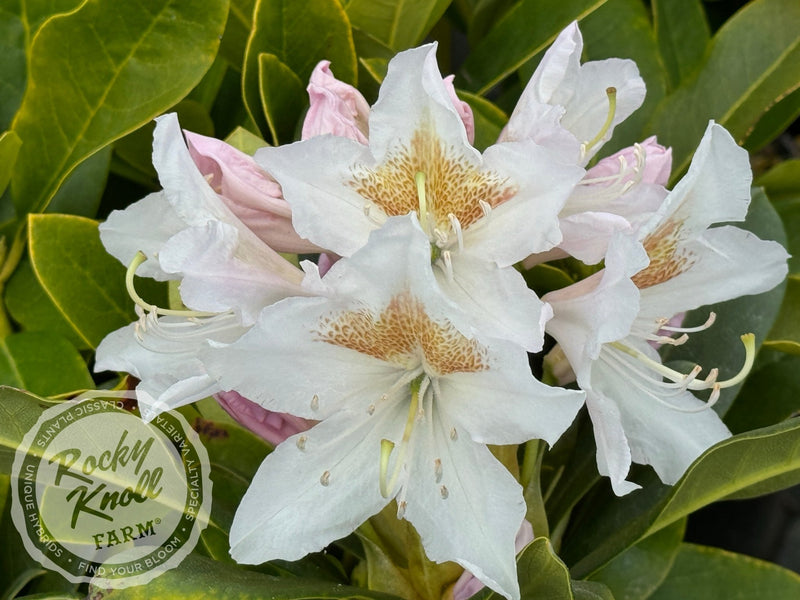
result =
[{"label": "lower-left white petal of the frontmost flower", "polygon": [[231,556],[247,564],[297,560],[380,511],[388,503],[379,486],[381,438],[384,425],[402,427],[397,408],[372,417],[339,413],[280,444],[239,504]]}]

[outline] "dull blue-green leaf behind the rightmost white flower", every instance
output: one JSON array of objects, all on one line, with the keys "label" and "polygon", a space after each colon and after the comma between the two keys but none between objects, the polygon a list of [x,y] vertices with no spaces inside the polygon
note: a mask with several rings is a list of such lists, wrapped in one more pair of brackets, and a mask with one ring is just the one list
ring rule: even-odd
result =
[{"label": "dull blue-green leaf behind the rightmost white flower", "polygon": [[[752,231],[761,239],[777,240],[785,244],[786,234],[781,219],[764,191],[759,188],[753,189],[753,200],[747,219],[744,223],[735,225]],[[687,326],[705,322],[711,311],[716,313],[717,319],[709,331],[696,333],[686,344],[667,349],[663,353],[664,359],[690,361],[706,370],[718,367],[721,379],[738,373],[745,354],[739,337],[743,333],[754,333],[756,348],[760,347],[780,312],[785,287],[785,284],[781,284],[763,294],[742,296],[688,313],[684,321]],[[726,351],[720,352],[720,348],[725,348]],[[740,388],[741,384],[722,390],[714,410],[724,415]]]}]

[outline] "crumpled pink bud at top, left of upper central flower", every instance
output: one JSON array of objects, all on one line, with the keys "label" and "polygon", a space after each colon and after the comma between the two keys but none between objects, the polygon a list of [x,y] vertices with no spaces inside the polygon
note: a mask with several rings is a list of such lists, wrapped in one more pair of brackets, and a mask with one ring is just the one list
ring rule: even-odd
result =
[{"label": "crumpled pink bud at top, left of upper central flower", "polygon": [[308,96],[311,106],[303,121],[302,139],[332,133],[362,144],[369,137],[369,104],[356,88],[339,81],[323,60],[311,73]]}]

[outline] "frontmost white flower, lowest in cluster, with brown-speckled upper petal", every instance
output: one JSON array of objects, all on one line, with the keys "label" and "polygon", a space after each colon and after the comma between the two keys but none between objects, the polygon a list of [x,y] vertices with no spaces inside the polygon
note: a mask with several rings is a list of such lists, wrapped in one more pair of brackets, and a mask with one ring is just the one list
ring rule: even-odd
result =
[{"label": "frontmost white flower, lowest in cluster, with brown-speckled upper petal", "polygon": [[326,297],[268,307],[203,355],[224,389],[321,421],[264,461],[234,519],[233,557],[298,559],[394,499],[431,560],[518,598],[525,503],[486,444],[554,443],[583,392],[545,386],[521,348],[456,325],[415,215],[389,219],[318,286]]}]

